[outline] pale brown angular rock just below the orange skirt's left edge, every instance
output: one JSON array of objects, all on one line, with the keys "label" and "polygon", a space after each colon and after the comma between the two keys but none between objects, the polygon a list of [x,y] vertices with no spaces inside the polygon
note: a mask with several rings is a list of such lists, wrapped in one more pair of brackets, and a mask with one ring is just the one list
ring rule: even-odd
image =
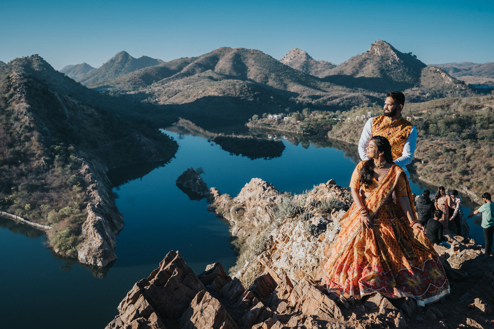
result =
[{"label": "pale brown angular rock just below the orange skirt's left edge", "polygon": [[315,315],[320,319],[339,319],[341,311],[334,301],[316,288],[315,283],[307,279],[301,280],[291,291],[290,305],[303,314]]}]

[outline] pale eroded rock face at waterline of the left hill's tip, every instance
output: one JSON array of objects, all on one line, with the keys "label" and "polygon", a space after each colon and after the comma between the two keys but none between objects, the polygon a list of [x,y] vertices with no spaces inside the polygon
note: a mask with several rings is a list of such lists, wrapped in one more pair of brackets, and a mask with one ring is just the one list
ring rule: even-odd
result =
[{"label": "pale eroded rock face at waterline of the left hill's tip", "polygon": [[[87,204],[87,218],[82,224],[78,258],[83,264],[106,266],[117,259],[115,254],[118,233],[124,227],[124,218],[114,201],[108,196],[103,181],[97,179],[88,164],[83,164],[81,174],[89,184],[90,202]],[[109,182],[106,182],[109,185]]]}]

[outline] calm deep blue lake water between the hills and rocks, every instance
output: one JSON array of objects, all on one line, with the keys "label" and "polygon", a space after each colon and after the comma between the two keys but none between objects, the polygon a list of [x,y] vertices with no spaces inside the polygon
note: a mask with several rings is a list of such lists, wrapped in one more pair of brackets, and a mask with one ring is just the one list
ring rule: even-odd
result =
[{"label": "calm deep blue lake water between the hills and rocks", "polygon": [[[127,291],[172,249],[180,251],[195,273],[218,260],[226,269],[233,266],[228,226],[207,212],[205,200],[191,201],[175,185],[189,167],[204,169],[208,187],[236,196],[252,177],[292,193],[331,178],[348,186],[356,164],[337,149],[304,148],[287,140],[281,157],[250,160],[201,137],[167,133],[180,145],[175,158],[115,188],[125,225],[117,238],[119,258],[102,273],[58,257],[36,230],[0,219],[2,328],[104,328],[117,315]],[[414,193],[423,189],[412,183]],[[468,213],[471,205],[466,203],[463,211]],[[472,225],[471,234],[483,241],[478,225]]]}]

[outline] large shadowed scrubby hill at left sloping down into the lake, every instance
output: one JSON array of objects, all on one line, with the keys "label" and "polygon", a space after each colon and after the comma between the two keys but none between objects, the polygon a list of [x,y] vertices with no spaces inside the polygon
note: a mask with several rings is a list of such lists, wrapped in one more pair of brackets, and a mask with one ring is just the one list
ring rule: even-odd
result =
[{"label": "large shadowed scrubby hill at left sloping down into the lake", "polygon": [[163,163],[176,142],[120,119],[141,105],[87,89],[38,55],[1,66],[0,90],[0,209],[49,226],[55,252],[105,266],[123,227],[106,171]]}]

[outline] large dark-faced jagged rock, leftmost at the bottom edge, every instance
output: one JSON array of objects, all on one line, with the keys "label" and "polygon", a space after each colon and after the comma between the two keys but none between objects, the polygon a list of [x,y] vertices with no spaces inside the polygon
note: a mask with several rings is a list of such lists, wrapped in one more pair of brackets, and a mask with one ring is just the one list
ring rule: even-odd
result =
[{"label": "large dark-faced jagged rock, leftmost at the bottom edge", "polygon": [[[137,282],[117,307],[109,328],[174,328],[204,285],[180,253],[170,251],[147,279]],[[121,327],[116,327],[122,322]],[[134,327],[132,327],[134,326]]]}]

